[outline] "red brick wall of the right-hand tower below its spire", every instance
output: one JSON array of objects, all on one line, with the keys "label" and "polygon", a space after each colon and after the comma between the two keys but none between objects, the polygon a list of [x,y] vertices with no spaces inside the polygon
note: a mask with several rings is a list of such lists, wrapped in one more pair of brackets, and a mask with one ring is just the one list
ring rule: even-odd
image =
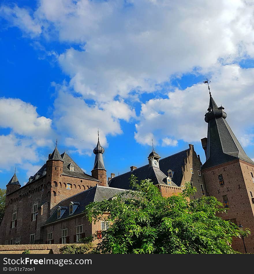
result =
[{"label": "red brick wall of the right-hand tower below its spire", "polygon": [[[251,173],[254,166],[242,160],[235,160],[216,167],[202,170],[206,191],[223,202],[223,195],[229,201],[228,214],[220,214],[223,219],[236,218],[237,225],[251,229],[251,235],[245,238],[247,252],[254,253],[254,205],[251,202],[250,191],[254,194],[254,183]],[[220,185],[218,175],[223,175],[224,185]],[[253,173],[254,174],[254,173]],[[234,239],[232,247],[244,253],[242,239]]]}]

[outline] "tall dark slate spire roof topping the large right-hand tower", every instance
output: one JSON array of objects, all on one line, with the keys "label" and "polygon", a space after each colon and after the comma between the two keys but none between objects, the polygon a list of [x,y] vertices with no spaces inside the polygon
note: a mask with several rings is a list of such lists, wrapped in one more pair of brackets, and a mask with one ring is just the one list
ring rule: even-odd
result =
[{"label": "tall dark slate spire roof topping the large right-hand tower", "polygon": [[206,113],[205,121],[208,123],[206,162],[202,169],[217,166],[235,159],[242,159],[254,164],[246,155],[236,136],[229,127],[226,112],[223,107],[218,108],[212,96],[210,96],[210,108]]}]

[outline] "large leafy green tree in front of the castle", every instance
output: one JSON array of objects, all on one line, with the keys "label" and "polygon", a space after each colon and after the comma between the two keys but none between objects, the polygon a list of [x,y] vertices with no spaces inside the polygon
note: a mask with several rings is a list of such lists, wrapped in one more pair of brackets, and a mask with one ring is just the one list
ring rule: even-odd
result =
[{"label": "large leafy green tree in front of the castle", "polygon": [[[215,197],[189,201],[196,189],[186,182],[179,195],[162,197],[150,180],[130,184],[135,191],[86,207],[90,222],[109,221],[110,227],[94,249],[96,253],[232,254],[232,237],[247,236],[238,227],[216,216],[226,209]],[[104,212],[110,212],[106,219]],[[96,237],[96,235],[94,235]]]}]

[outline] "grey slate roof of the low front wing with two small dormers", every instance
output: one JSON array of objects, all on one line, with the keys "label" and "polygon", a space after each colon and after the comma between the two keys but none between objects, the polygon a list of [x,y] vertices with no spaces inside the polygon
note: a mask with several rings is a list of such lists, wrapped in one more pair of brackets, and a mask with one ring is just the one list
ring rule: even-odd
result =
[{"label": "grey slate roof of the low front wing with two small dormers", "polygon": [[[54,213],[50,216],[50,218],[47,220],[46,224],[50,224],[52,222],[55,222],[57,220],[63,220],[70,216],[75,216],[77,214],[83,213],[85,210],[85,207],[91,203],[91,202],[100,202],[102,200],[108,200],[112,197],[114,197],[117,193],[124,192],[124,189],[117,189],[113,187],[103,187],[100,185],[96,185],[95,187],[91,187],[83,192],[80,192],[79,194],[76,194],[74,196],[71,196],[65,200],[62,200],[58,207],[67,207],[66,211],[63,213],[61,218],[57,219],[57,208],[54,211]],[[72,215],[69,215],[69,204],[70,202],[78,202],[79,206],[74,211]]]}]

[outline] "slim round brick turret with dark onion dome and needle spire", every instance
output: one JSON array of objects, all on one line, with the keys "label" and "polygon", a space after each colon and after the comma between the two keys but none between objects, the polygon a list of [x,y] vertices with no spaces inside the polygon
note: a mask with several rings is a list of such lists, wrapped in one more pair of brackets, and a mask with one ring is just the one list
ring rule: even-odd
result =
[{"label": "slim round brick turret with dark onion dome and needle spire", "polygon": [[102,157],[103,153],[104,153],[104,148],[100,145],[99,131],[98,131],[98,142],[97,142],[97,146],[94,149],[94,154],[95,154],[94,168],[91,172],[92,172],[92,176],[95,179],[98,179],[100,181],[100,185],[107,186],[107,174],[106,174],[107,170],[104,167],[104,162]]}]

